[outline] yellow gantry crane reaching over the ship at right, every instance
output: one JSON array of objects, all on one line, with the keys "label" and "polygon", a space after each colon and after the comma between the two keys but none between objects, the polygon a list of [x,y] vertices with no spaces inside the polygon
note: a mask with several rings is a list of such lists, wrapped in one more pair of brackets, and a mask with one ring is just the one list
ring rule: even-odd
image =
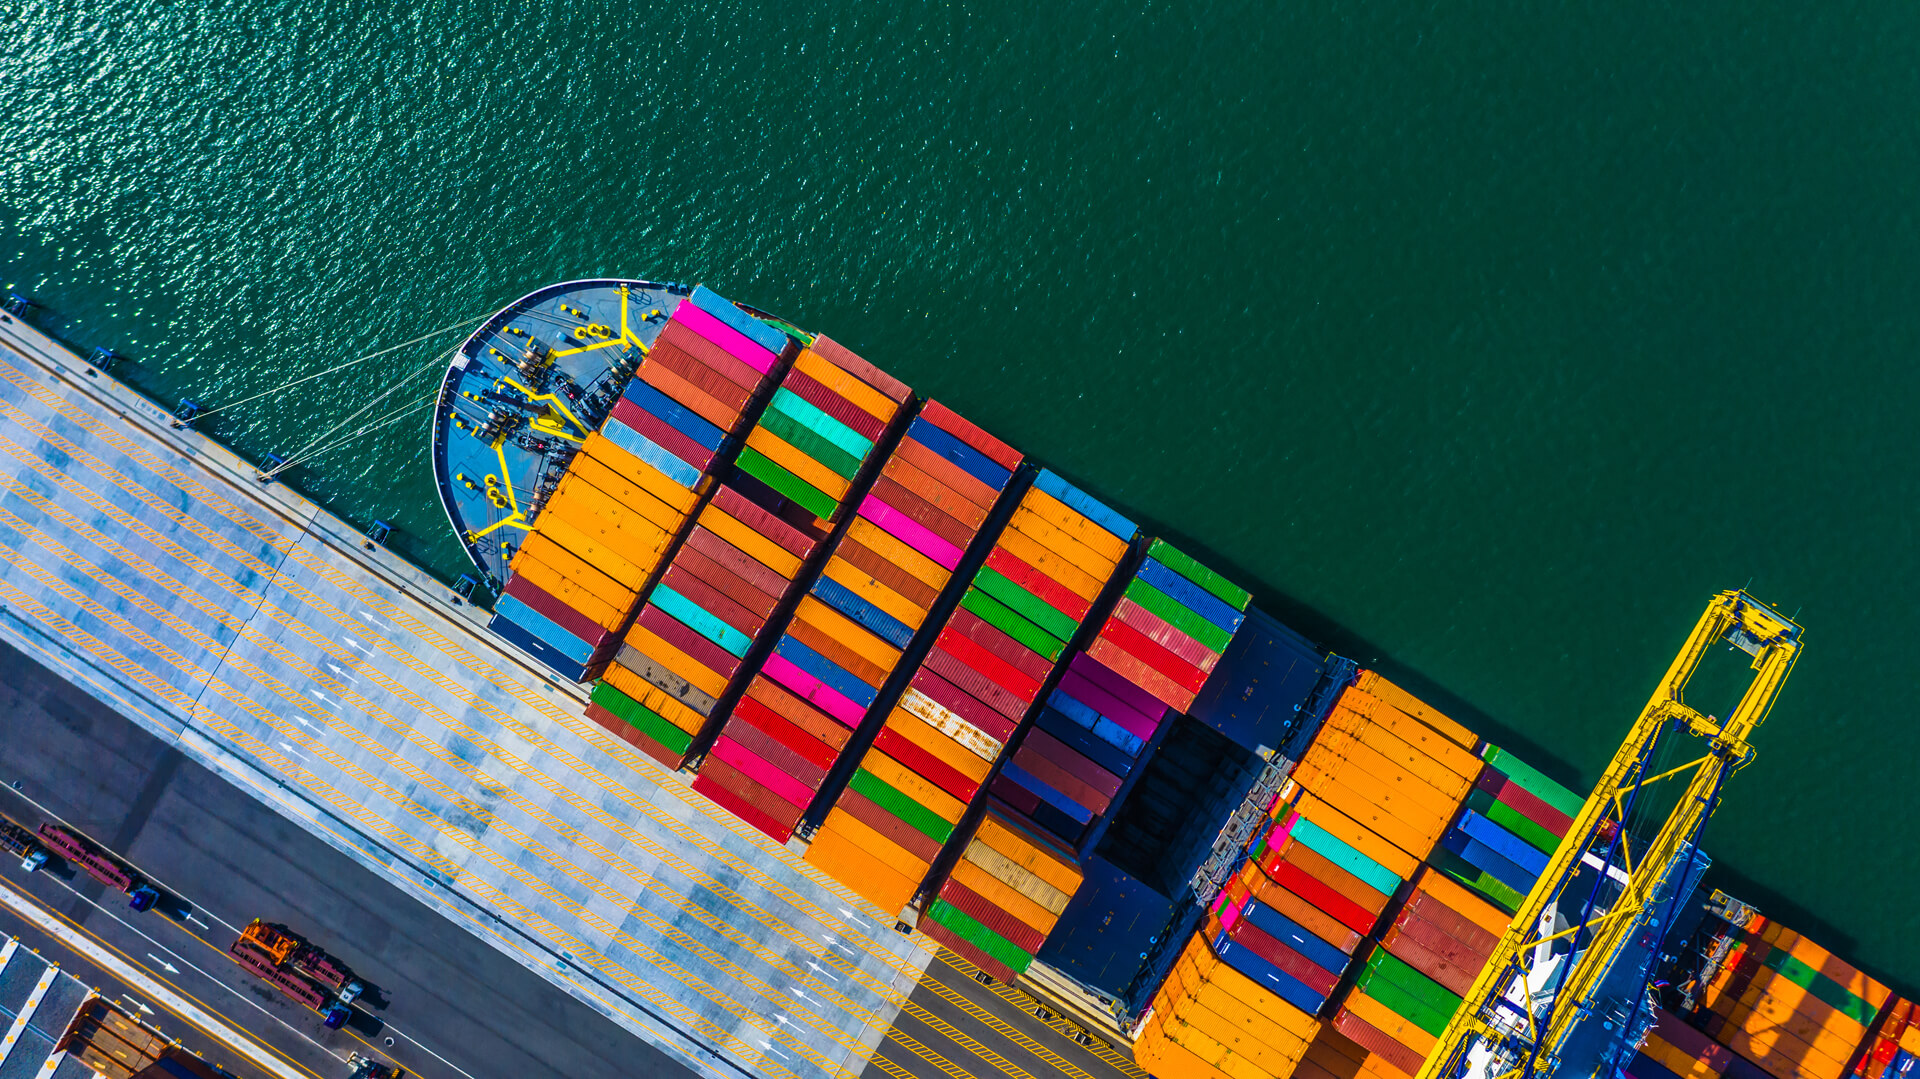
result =
[{"label": "yellow gantry crane reaching over the ship at right", "polygon": [[[1724,720],[1686,705],[1688,680],[1718,641],[1751,655],[1755,670],[1753,682]],[[1453,1079],[1469,1067],[1488,1079],[1553,1073],[1567,1037],[1592,1012],[1613,958],[1630,943],[1644,918],[1653,914],[1655,889],[1676,858],[1692,858],[1692,845],[1713,814],[1720,783],[1751,758],[1747,735],[1772,708],[1799,647],[1801,628],[1745,591],[1722,591],[1707,605],[1632,733],[1620,743],[1546,872],[1513,916],[1494,956],[1461,998],[1417,1079]],[[1670,753],[1670,739],[1697,745],[1699,756],[1649,774],[1655,751],[1665,741]],[[1665,801],[1682,781],[1686,789],[1672,803],[1659,833],[1645,843],[1636,839],[1628,822],[1642,795],[1665,787],[1647,795],[1647,801]],[[1586,902],[1569,918],[1563,897],[1588,854],[1599,860],[1599,877],[1582,885]],[[1596,899],[1609,879],[1620,885],[1619,895],[1605,910],[1597,910]],[[1569,899],[1578,906],[1580,895]],[[1561,923],[1557,918],[1572,923],[1555,929]],[[1565,947],[1571,950],[1563,950]]]}]

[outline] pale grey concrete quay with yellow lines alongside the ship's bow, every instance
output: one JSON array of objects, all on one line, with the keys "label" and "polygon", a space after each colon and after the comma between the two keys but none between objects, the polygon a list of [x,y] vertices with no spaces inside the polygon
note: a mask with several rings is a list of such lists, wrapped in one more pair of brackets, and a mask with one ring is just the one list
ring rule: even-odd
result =
[{"label": "pale grey concrete quay with yellow lines alongside the ship's bow", "polygon": [[925,941],[169,420],[0,317],[0,639],[695,1071],[866,1067]]}]

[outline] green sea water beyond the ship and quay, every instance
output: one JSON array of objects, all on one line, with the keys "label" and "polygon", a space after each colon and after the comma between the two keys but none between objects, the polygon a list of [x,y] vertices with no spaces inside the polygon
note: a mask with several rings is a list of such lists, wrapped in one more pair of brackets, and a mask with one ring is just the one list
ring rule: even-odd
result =
[{"label": "green sea water beyond the ship and quay", "polygon": [[[1707,847],[1920,987],[1920,8],[0,15],[0,276],[165,401],[549,280],[705,280],[1582,787],[1751,582],[1807,651]],[[432,357],[211,430],[286,453]],[[424,447],[292,480],[453,576]]]}]

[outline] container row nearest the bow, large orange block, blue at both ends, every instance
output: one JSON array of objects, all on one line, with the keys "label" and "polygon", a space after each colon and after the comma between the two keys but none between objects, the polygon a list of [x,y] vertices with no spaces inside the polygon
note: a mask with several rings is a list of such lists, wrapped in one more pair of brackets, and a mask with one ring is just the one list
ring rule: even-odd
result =
[{"label": "container row nearest the bow, large orange block, blue at both ends", "polygon": [[597,674],[716,455],[791,348],[783,332],[695,288],[534,518],[493,632],[570,682]]}]

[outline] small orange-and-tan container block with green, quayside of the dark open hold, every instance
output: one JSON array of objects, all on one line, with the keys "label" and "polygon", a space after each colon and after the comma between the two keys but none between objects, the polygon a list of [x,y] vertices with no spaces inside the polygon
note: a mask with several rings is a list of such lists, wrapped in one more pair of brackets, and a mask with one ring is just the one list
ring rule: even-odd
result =
[{"label": "small orange-and-tan container block with green, quayside of the dark open hold", "polygon": [[920,931],[1000,981],[1014,981],[1079,891],[1073,852],[989,806]]}]

